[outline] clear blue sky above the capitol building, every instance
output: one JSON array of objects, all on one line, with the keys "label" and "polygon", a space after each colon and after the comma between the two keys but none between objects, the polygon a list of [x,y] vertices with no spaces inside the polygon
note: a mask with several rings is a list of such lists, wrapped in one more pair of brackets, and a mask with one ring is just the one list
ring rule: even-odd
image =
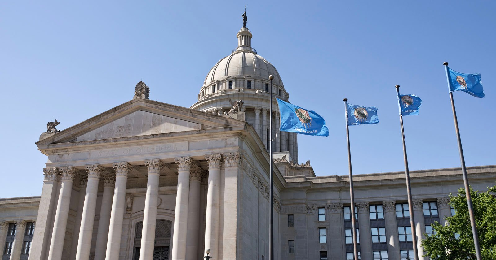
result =
[{"label": "clear blue sky above the capitol building", "polygon": [[[241,1],[1,1],[0,197],[38,196],[47,157],[35,142],[132,99],[189,107],[237,46]],[[411,170],[459,167],[443,61],[481,73],[486,97],[454,93],[467,166],[496,164],[494,1],[249,1],[252,47],[278,69],[290,102],[313,109],[329,137],[299,135],[300,162],[347,175],[343,98],[379,107],[350,127],[355,174],[403,171],[394,85],[423,99],[407,116]]]}]

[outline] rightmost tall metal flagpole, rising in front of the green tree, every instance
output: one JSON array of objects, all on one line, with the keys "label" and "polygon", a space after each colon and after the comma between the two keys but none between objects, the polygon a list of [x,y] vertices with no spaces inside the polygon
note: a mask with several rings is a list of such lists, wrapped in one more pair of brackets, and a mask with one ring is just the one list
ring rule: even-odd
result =
[{"label": "rightmost tall metal flagpole, rising in front of the green tree", "polygon": [[[446,69],[446,78],[448,80],[448,89],[449,89],[450,80],[449,80],[448,62],[444,61],[442,64]],[[453,101],[453,93],[451,91],[449,92],[449,98],[451,99],[451,108],[453,109],[453,120],[455,121],[456,138],[458,139],[458,151],[460,152],[460,162],[462,164],[463,184],[465,186],[465,196],[467,196],[467,206],[468,206],[468,213],[470,215],[470,225],[472,226],[472,235],[474,237],[475,254],[477,256],[477,260],[482,260],[481,249],[479,246],[479,235],[477,234],[477,226],[475,224],[474,208],[472,207],[472,196],[470,195],[467,169],[465,168],[465,158],[463,157],[462,140],[460,139],[460,129],[458,129],[458,119],[456,118],[455,102]]]}]

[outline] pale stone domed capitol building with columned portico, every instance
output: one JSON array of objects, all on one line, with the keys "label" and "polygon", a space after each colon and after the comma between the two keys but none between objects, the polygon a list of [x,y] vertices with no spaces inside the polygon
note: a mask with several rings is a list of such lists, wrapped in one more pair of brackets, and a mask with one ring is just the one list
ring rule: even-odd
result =
[{"label": "pale stone domed capitol building with columned portico", "polygon": [[[207,249],[212,260],[268,260],[269,75],[277,98],[290,95],[252,32],[236,37],[189,108],[150,99],[139,82],[129,101],[42,133],[41,196],[0,199],[1,260],[201,260]],[[273,143],[275,259],[352,260],[348,176],[316,177],[296,133]],[[494,185],[496,165],[467,170],[475,190]],[[410,174],[420,241],[454,214],[462,174]],[[404,172],[356,175],[354,189],[360,258],[413,259]]]}]

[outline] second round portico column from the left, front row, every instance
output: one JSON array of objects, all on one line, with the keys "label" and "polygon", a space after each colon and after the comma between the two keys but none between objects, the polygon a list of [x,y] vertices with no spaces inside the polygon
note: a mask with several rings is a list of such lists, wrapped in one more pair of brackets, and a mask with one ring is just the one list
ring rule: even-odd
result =
[{"label": "second round portico column from the left, front row", "polygon": [[86,185],[86,194],[84,196],[81,227],[79,228],[79,241],[77,242],[76,260],[88,260],[90,257],[98,183],[100,182],[100,174],[102,174],[105,170],[104,167],[98,164],[88,165],[84,168],[88,172],[88,182]]}]

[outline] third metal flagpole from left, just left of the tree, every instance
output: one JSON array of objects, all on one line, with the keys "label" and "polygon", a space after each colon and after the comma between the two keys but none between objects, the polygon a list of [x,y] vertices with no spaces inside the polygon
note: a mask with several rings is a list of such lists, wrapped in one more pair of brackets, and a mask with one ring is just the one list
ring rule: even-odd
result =
[{"label": "third metal flagpole from left, just left of the tree", "polygon": [[405,144],[405,131],[403,130],[403,115],[401,114],[401,105],[400,105],[401,102],[400,85],[396,85],[395,87],[396,87],[396,94],[398,95],[398,108],[400,110],[401,137],[403,138],[403,157],[405,159],[406,193],[408,196],[408,210],[410,211],[410,228],[412,229],[413,255],[415,260],[419,260],[419,253],[417,249],[417,234],[416,234],[417,230],[415,228],[415,218],[413,216],[412,187],[410,186],[410,171],[408,170],[408,158],[406,156],[406,144]]}]

